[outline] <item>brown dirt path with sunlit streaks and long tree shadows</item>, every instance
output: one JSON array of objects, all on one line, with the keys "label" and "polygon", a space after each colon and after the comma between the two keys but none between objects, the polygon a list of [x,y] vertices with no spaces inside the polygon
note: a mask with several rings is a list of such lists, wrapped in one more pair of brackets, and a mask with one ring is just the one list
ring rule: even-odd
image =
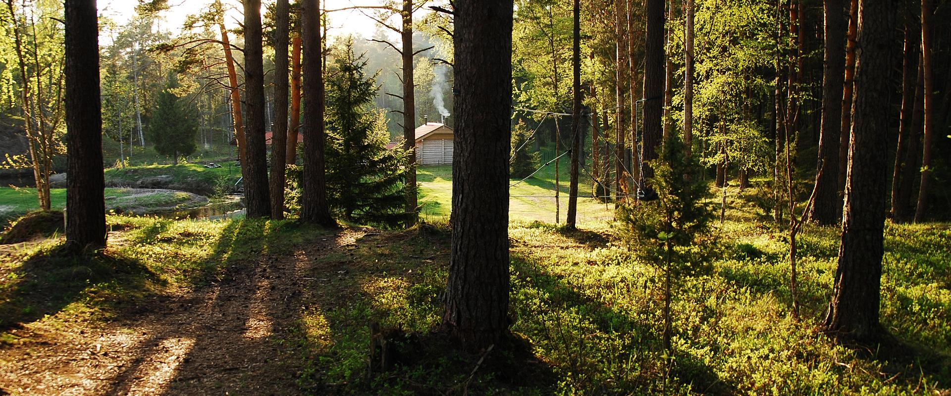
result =
[{"label": "brown dirt path with sunlit streaks and long tree shadows", "polygon": [[111,323],[26,325],[0,349],[0,395],[300,394],[301,358],[275,339],[310,300],[306,274],[339,270],[318,259],[362,235],[232,265],[226,281],[155,297]]}]

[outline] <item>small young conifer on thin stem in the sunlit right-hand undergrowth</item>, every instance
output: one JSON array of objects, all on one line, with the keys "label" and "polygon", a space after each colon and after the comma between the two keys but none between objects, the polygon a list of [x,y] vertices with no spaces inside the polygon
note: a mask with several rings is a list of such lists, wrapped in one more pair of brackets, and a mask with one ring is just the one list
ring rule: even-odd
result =
[{"label": "small young conifer on thin stem in the sunlit right-hand undergrowth", "polygon": [[619,204],[619,235],[640,248],[643,258],[664,271],[664,347],[670,349],[670,295],[672,282],[680,273],[696,273],[704,268],[709,252],[697,238],[709,230],[713,212],[704,203],[711,194],[707,182],[697,177],[700,162],[687,156],[684,144],[670,134],[661,146],[661,156],[651,160],[653,175],[648,182],[657,199]]}]

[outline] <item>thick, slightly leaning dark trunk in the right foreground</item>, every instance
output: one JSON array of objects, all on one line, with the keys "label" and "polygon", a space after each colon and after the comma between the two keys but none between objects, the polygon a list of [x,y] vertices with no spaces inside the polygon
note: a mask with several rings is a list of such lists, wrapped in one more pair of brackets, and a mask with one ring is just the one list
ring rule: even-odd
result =
[{"label": "thick, slightly leaning dark trunk in the right foreground", "polygon": [[841,341],[876,341],[882,281],[887,125],[895,44],[895,1],[863,1],[848,152],[842,246],[825,330]]}]

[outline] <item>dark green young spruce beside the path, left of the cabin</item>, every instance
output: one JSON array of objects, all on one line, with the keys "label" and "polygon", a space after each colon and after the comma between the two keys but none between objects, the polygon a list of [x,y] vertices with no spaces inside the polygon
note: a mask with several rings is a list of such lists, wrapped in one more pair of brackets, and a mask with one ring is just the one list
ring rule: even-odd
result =
[{"label": "dark green young spruce beside the path, left of the cabin", "polygon": [[377,75],[347,40],[327,78],[327,190],[331,210],[365,224],[398,226],[405,211],[408,152],[386,148],[384,114],[373,107]]}]

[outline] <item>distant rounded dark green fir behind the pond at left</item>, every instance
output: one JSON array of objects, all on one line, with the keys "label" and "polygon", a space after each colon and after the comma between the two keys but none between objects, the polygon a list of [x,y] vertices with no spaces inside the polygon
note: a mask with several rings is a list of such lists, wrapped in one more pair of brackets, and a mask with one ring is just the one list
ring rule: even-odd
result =
[{"label": "distant rounded dark green fir behind the pond at left", "polygon": [[148,126],[155,151],[172,156],[175,164],[178,164],[179,156],[187,157],[195,152],[195,134],[198,131],[194,112],[175,93],[178,87],[178,79],[170,75],[165,89],[155,101],[152,122]]}]

